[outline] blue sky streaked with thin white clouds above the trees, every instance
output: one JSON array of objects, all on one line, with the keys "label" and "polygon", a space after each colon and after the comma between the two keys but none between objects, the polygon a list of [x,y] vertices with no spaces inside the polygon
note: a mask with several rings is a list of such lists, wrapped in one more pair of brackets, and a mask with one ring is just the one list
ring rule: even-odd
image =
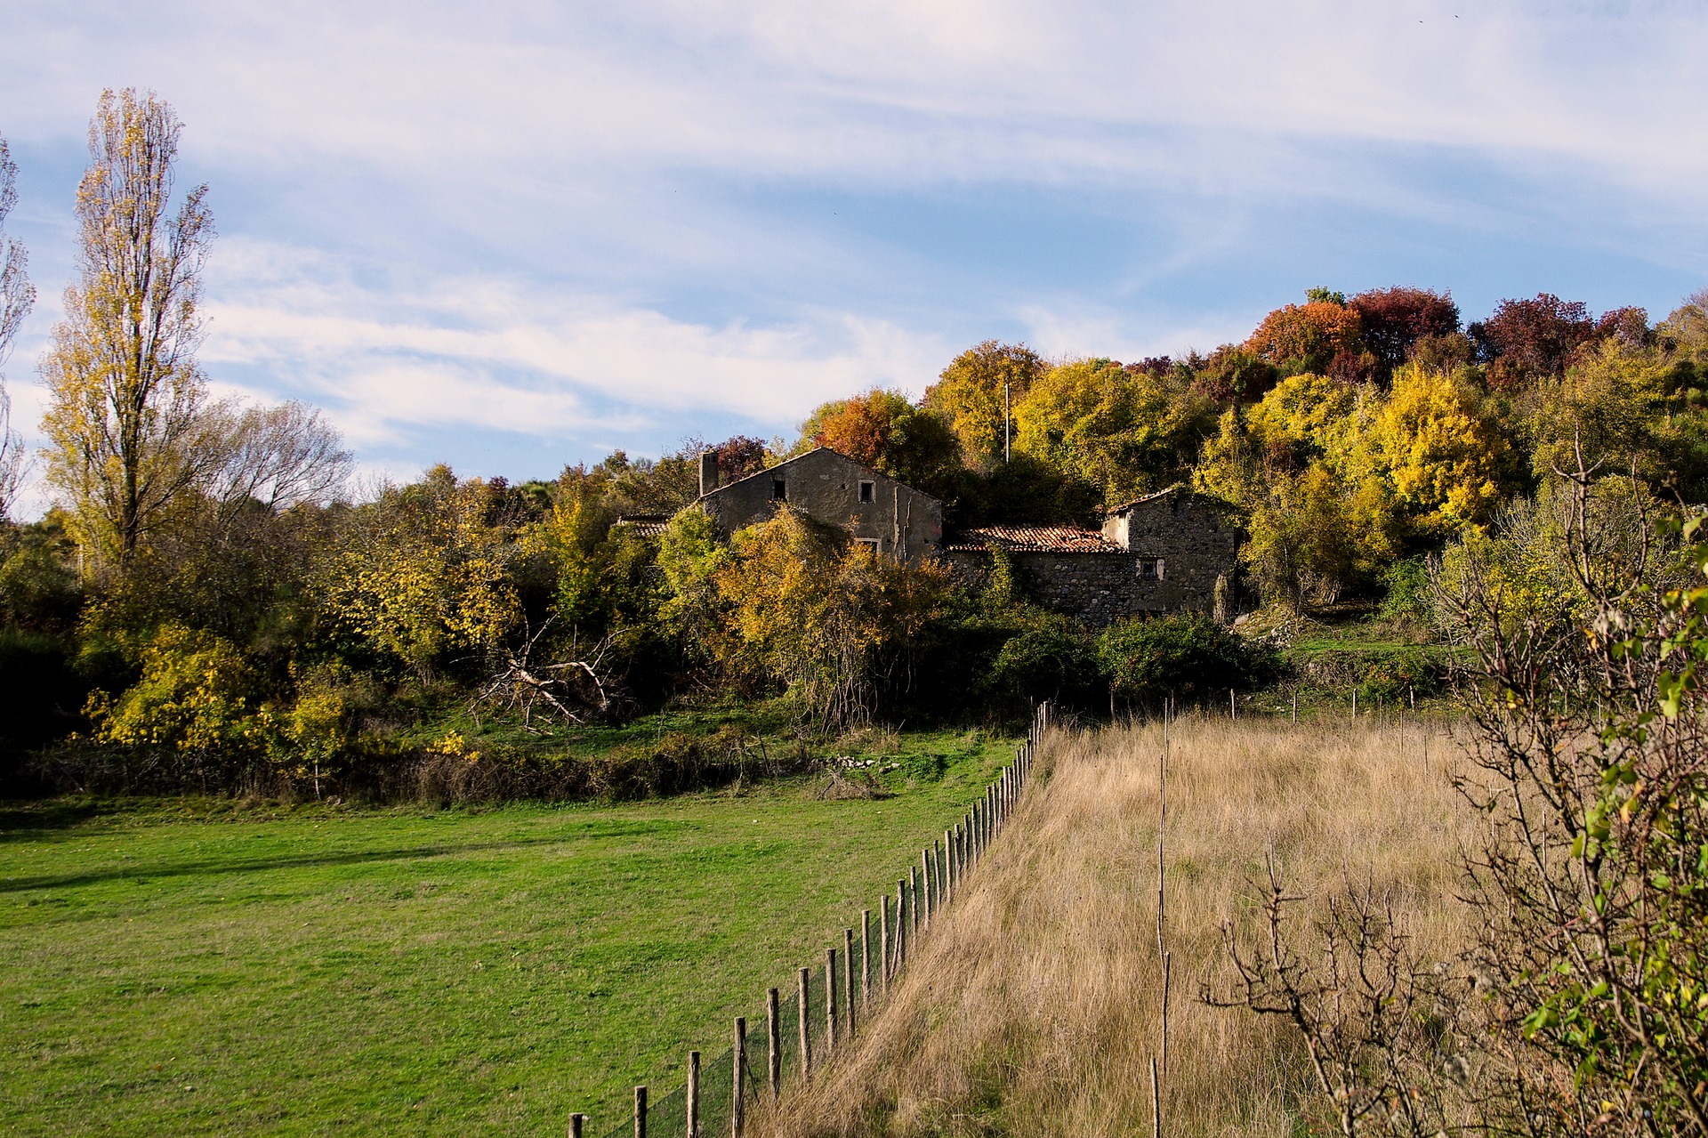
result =
[{"label": "blue sky streaked with thin white clouds above the trees", "polygon": [[793,437],[980,340],[1209,350],[1312,285],[1469,321],[1708,284],[1693,3],[0,0],[0,29],[27,437],[104,87],[171,103],[210,186],[214,391],[325,408],[367,478]]}]

